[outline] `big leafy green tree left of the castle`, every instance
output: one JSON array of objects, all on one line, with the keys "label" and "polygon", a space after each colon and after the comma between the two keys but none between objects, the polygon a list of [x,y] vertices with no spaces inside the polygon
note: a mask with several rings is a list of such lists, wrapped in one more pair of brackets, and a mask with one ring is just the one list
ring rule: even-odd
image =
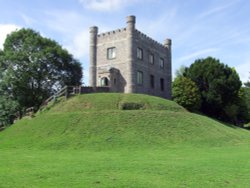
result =
[{"label": "big leafy green tree left of the castle", "polygon": [[65,85],[80,85],[82,78],[79,61],[31,29],[7,36],[0,53],[0,70],[2,95],[11,96],[20,108],[38,108],[53,92]]}]

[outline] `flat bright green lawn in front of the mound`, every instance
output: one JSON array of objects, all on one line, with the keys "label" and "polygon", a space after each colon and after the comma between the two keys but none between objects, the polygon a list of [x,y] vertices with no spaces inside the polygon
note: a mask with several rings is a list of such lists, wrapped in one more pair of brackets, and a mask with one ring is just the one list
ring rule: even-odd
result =
[{"label": "flat bright green lawn in front of the mound", "polygon": [[0,150],[0,187],[249,187],[250,150]]}]

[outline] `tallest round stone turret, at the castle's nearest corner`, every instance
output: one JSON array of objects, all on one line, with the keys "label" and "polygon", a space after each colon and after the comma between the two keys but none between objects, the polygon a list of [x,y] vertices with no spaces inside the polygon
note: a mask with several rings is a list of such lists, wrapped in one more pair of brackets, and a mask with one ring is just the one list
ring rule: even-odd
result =
[{"label": "tallest round stone turret, at the castle's nearest corner", "polygon": [[135,16],[128,16],[127,17],[127,36],[128,36],[128,79],[127,79],[127,88],[126,88],[126,93],[134,93],[135,92],[135,79],[136,79],[136,75],[135,72],[133,70],[133,64],[134,64],[134,57],[133,57],[133,51],[134,51],[134,45],[133,45],[133,41],[134,41],[134,32],[135,32],[135,21],[136,18]]}]

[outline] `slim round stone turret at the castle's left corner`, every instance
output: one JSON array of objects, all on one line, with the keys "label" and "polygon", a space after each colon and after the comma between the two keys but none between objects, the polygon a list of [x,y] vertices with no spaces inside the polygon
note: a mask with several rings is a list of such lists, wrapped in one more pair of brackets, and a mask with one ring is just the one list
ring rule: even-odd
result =
[{"label": "slim round stone turret at the castle's left corner", "polygon": [[89,85],[96,87],[96,51],[98,27],[90,27],[90,45],[89,45]]}]

